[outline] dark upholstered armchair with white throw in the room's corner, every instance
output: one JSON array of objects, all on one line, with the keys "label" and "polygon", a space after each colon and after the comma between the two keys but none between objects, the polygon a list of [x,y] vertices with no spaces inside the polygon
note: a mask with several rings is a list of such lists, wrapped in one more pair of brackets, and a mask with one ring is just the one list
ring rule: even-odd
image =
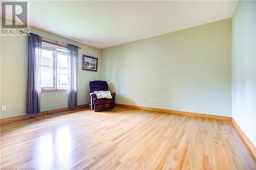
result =
[{"label": "dark upholstered armchair with white throw in the room's corner", "polygon": [[94,91],[107,91],[109,90],[108,83],[105,81],[92,81],[90,82],[90,96],[91,96],[91,104],[90,107],[94,111],[100,110],[110,110],[115,108],[115,95],[116,93],[111,93],[112,99],[98,99]]}]

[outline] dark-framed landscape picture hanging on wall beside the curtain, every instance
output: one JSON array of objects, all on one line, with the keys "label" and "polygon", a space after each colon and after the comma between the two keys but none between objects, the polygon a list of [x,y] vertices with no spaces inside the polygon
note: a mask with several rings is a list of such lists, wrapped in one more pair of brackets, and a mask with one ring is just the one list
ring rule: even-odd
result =
[{"label": "dark-framed landscape picture hanging on wall beside the curtain", "polygon": [[98,58],[82,55],[82,69],[88,71],[97,71]]}]

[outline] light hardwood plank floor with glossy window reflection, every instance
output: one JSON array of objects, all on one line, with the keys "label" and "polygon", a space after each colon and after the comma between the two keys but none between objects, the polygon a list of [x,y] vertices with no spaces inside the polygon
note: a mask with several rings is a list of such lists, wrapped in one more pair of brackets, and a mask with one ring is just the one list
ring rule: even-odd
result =
[{"label": "light hardwood plank floor with glossy window reflection", "polygon": [[1,167],[256,169],[231,122],[116,107],[1,125]]}]

